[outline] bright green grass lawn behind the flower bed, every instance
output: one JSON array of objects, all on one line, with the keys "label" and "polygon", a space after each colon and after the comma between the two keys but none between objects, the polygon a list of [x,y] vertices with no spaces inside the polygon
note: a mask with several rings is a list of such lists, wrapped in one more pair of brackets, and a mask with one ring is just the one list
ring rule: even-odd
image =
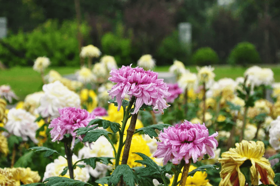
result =
[{"label": "bright green grass lawn behind the flower bed", "polygon": [[[262,65],[260,65],[262,66]],[[262,67],[271,68],[274,72],[275,82],[280,82],[280,66],[266,65]],[[156,72],[168,71],[169,66],[159,66],[154,69]],[[195,66],[186,67],[191,72],[196,73]],[[215,80],[220,78],[237,78],[243,76],[243,73],[247,68],[243,67],[230,67],[230,66],[214,66],[214,73],[216,74]],[[78,68],[76,67],[56,67],[46,70],[50,71],[54,69],[61,75],[74,73]],[[32,67],[14,67],[7,70],[0,70],[0,85],[8,84],[12,87],[15,93],[20,97],[20,100],[24,100],[27,94],[42,90],[42,80],[38,72],[34,71]]]}]

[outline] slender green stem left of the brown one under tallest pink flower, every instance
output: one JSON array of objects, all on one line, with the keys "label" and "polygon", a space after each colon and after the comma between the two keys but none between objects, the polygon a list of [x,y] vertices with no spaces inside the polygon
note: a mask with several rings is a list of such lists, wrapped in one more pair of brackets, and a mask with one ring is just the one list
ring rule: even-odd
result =
[{"label": "slender green stem left of the brown one under tallest pink flower", "polygon": [[124,114],[123,114],[122,128],[121,128],[121,130],[119,130],[119,135],[120,135],[119,147],[118,147],[117,155],[115,156],[115,158],[116,158],[115,168],[120,164],[120,155],[121,155],[122,148],[123,148],[123,145],[124,145],[124,143],[123,143],[123,133],[125,131],[125,125],[127,123],[127,120],[130,117],[129,110],[131,109],[132,105],[134,104],[134,101],[135,101],[135,97],[132,96],[132,98],[129,102],[129,105],[127,106],[127,108],[126,108],[126,110],[124,111]]}]

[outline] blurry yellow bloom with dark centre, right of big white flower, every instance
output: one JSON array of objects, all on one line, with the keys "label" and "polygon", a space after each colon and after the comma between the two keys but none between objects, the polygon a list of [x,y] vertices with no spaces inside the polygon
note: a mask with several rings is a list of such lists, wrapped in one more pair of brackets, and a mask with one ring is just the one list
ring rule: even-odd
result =
[{"label": "blurry yellow bloom with dark centre, right of big white flower", "polygon": [[88,89],[81,90],[80,98],[81,98],[82,105],[85,105],[87,107],[87,111],[92,112],[97,107],[98,97],[93,90],[88,90]]}]

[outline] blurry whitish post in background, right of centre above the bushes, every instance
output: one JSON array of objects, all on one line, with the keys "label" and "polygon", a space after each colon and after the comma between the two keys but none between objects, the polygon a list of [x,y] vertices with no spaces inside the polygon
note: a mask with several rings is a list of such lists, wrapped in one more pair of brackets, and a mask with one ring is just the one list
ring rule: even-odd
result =
[{"label": "blurry whitish post in background, right of centre above the bushes", "polygon": [[179,23],[179,41],[190,54],[192,52],[192,25],[190,23]]}]

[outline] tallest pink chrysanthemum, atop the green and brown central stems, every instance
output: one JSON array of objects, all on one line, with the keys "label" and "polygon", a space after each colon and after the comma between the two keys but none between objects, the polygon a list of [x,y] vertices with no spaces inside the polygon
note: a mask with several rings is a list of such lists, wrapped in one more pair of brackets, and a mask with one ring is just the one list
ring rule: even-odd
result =
[{"label": "tallest pink chrysanthemum, atop the green and brown central stems", "polygon": [[128,94],[130,98],[136,97],[135,109],[132,114],[137,113],[144,103],[152,105],[155,113],[163,113],[163,109],[170,106],[164,98],[171,96],[171,94],[167,92],[168,88],[163,79],[157,78],[158,73],[151,70],[145,71],[139,67],[131,68],[130,65],[112,69],[110,74],[112,77],[109,80],[117,84],[108,92],[112,99],[116,96],[118,111],[122,106],[125,94]]}]

